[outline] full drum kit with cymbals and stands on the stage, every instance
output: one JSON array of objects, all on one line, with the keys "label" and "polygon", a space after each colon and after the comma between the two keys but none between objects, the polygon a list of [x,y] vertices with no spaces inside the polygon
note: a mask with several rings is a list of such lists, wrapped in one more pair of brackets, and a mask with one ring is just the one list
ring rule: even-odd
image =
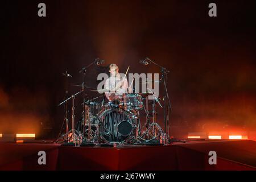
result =
[{"label": "full drum kit with cymbals and stands on the stage", "polygon": [[[95,63],[95,61],[93,62]],[[83,81],[86,70],[93,64],[82,69]],[[64,75],[70,76],[67,72]],[[168,132],[164,131],[156,122],[156,105],[163,107],[158,98],[148,100],[153,96],[151,90],[145,93],[125,93],[119,100],[106,101],[104,94],[89,99],[85,94],[85,83],[81,90],[67,98],[65,90],[64,105],[65,117],[59,136],[55,142],[64,142],[71,146],[122,146],[130,144],[163,145],[169,143]],[[100,93],[102,90],[90,90],[89,92]],[[103,90],[105,91],[105,90]],[[82,102],[81,119],[75,122],[75,98],[84,93]],[[67,102],[72,101],[71,123],[68,119]],[[100,101],[99,101],[100,100]],[[151,106],[152,111],[149,111]],[[146,115],[146,122],[141,125],[140,113]],[[69,125],[72,129],[69,130]],[[62,131],[65,129],[65,133]]]}]

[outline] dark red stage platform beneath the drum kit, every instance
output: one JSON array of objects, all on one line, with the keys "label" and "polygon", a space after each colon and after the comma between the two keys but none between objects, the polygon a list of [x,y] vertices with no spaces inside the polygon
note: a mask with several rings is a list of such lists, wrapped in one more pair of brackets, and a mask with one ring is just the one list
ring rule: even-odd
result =
[{"label": "dark red stage platform beneath the drum kit", "polygon": [[[168,146],[64,147],[0,143],[0,170],[256,170],[253,140],[210,140]],[[46,151],[46,165],[38,152]],[[208,152],[217,152],[217,164]]]}]

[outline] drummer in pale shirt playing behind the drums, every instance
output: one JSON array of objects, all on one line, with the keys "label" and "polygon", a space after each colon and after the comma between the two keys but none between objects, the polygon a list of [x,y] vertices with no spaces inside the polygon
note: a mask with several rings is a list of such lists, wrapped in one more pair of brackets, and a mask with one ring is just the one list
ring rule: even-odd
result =
[{"label": "drummer in pale shirt playing behind the drums", "polygon": [[132,89],[128,86],[128,81],[125,77],[121,77],[119,74],[119,68],[116,64],[109,65],[110,77],[106,80],[104,89],[108,89],[110,92],[105,92],[106,98],[109,101],[122,100],[123,94],[132,92]]}]

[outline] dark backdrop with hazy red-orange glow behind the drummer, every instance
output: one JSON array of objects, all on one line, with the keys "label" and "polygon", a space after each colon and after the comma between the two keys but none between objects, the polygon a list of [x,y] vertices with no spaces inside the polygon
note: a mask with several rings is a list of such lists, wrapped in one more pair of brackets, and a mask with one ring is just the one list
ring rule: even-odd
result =
[{"label": "dark backdrop with hazy red-orange glow behind the drummer", "polygon": [[[46,3],[46,18],[38,16],[40,2]],[[210,2],[217,4],[217,17],[208,16]],[[0,6],[1,132],[56,137],[63,121],[63,107],[57,107],[64,96],[63,72],[73,76],[70,83],[81,84],[79,70],[100,57],[103,66],[115,63],[123,73],[129,65],[130,73],[159,73],[152,64],[138,64],[146,56],[171,71],[172,134],[256,128],[255,1],[1,1]],[[96,80],[94,69],[88,84]],[[78,91],[69,86],[69,94]],[[81,102],[77,97],[76,119]],[[162,125],[161,114],[158,121]]]}]

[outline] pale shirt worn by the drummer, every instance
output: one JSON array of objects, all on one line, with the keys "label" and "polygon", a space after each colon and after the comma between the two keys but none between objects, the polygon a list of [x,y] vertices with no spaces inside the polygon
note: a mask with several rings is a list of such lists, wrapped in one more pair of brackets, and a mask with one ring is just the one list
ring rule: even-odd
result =
[{"label": "pale shirt worn by the drummer", "polygon": [[108,90],[113,90],[115,89],[115,86],[118,84],[118,82],[120,82],[122,79],[124,79],[122,86],[120,86],[120,88],[118,88],[115,92],[105,92],[106,98],[108,98],[108,100],[113,101],[121,99],[123,97],[123,94],[127,93],[128,81],[126,78],[114,76],[110,76],[106,80],[104,88]]}]

